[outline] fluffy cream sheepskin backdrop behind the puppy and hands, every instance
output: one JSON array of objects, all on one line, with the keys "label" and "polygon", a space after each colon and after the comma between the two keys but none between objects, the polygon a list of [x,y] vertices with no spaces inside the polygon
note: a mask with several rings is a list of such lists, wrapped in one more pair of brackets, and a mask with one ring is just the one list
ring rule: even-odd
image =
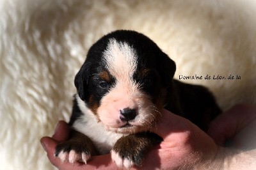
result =
[{"label": "fluffy cream sheepskin backdrop behind the puppy and hands", "polygon": [[256,104],[255,16],[253,0],[1,0],[0,169],[54,169],[40,137],[68,121],[87,50],[115,29],[154,40],[177,79],[202,75],[183,81],[210,88],[222,109]]}]

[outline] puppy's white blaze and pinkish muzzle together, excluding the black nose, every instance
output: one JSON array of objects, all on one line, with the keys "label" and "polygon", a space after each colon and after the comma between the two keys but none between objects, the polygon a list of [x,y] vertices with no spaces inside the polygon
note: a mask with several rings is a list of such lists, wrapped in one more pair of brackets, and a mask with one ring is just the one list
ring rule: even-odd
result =
[{"label": "puppy's white blaze and pinkish muzzle together, excluding the black nose", "polygon": [[[109,129],[121,133],[134,133],[147,130],[156,118],[156,112],[152,111],[152,101],[140,89],[140,84],[133,79],[138,65],[136,50],[125,42],[109,40],[108,47],[104,51],[106,67],[115,77],[115,86],[111,88],[100,100],[97,113],[99,120]],[[126,124],[120,120],[120,110],[136,109],[136,118],[129,121],[131,128],[122,128]]]}]

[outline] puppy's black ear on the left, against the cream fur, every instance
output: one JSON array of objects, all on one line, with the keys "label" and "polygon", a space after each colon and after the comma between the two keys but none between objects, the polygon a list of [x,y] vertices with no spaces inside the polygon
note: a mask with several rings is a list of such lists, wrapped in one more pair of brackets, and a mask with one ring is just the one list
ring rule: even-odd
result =
[{"label": "puppy's black ear on the left, against the cream fur", "polygon": [[90,74],[89,70],[89,66],[86,63],[84,63],[75,77],[75,86],[77,89],[77,93],[83,101],[86,99],[86,96],[88,95],[88,79]]}]

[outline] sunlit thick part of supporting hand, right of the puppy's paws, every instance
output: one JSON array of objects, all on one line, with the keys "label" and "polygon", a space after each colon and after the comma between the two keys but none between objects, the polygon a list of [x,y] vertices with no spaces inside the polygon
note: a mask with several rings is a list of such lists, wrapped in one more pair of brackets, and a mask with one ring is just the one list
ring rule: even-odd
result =
[{"label": "sunlit thick part of supporting hand, right of the puppy's paws", "polygon": [[144,169],[205,169],[212,166],[218,146],[200,128],[163,109],[152,132],[163,138],[143,162]]}]

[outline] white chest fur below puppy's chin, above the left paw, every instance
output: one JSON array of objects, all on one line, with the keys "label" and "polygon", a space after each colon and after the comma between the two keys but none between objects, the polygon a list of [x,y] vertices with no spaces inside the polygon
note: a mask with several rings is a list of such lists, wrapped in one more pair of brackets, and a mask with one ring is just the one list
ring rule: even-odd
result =
[{"label": "white chest fur below puppy's chin, above the left paw", "polygon": [[84,104],[78,95],[76,95],[79,108],[84,115],[74,122],[73,127],[78,131],[88,136],[100,154],[109,153],[116,141],[125,134],[117,134],[106,130],[102,123],[98,122],[88,107]]}]

